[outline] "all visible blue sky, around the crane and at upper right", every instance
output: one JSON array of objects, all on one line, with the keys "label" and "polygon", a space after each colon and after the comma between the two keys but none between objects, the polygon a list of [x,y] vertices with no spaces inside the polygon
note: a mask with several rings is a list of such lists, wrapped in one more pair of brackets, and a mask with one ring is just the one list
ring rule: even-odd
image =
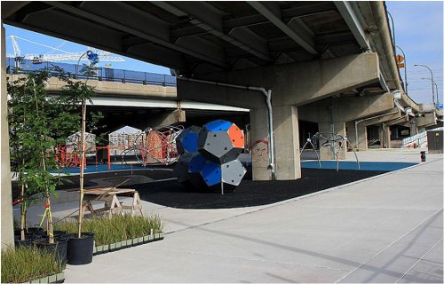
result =
[{"label": "all visible blue sky, around the crane and at upper right", "polygon": [[[388,12],[394,22],[395,43],[406,55],[408,95],[417,103],[432,103],[432,85],[430,71],[425,67],[415,67],[422,64],[430,67],[433,80],[438,85],[440,102],[443,99],[443,2],[442,1],[386,1]],[[56,47],[62,51],[84,52],[87,46],[70,43],[52,36],[44,36],[21,28],[4,25],[6,30],[6,53],[13,54],[12,42],[9,36],[19,36],[36,43]],[[45,54],[50,48],[29,43],[18,39],[21,54]],[[59,45],[61,44],[61,45]],[[401,54],[400,50],[397,49]],[[52,51],[52,53],[62,53]],[[111,64],[112,68],[145,71],[170,75],[170,69],[155,66],[136,59],[125,58],[125,62],[103,62],[100,67]],[[76,63],[71,61],[70,63]],[[405,68],[400,69],[404,78]],[[424,78],[424,79],[423,79]]]}]

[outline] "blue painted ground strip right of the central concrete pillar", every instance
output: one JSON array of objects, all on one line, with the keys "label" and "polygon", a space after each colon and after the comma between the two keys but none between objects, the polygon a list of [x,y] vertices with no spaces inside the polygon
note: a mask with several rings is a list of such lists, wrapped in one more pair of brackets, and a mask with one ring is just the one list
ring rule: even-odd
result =
[{"label": "blue painted ground strip right of the central concrete pillar", "polygon": [[[336,170],[336,161],[321,161],[321,168],[318,161],[302,162],[302,168],[305,169],[331,169]],[[416,165],[414,162],[360,162],[360,168],[356,162],[339,162],[339,170],[400,170]]]}]

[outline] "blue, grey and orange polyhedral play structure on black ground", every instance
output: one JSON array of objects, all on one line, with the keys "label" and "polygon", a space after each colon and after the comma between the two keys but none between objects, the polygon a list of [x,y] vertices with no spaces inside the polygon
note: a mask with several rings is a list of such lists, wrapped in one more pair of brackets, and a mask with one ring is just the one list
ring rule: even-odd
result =
[{"label": "blue, grey and orange polyhedral play structure on black ground", "polygon": [[176,145],[181,157],[174,169],[186,186],[234,191],[247,170],[238,160],[244,148],[243,131],[233,122],[216,120],[183,130]]}]

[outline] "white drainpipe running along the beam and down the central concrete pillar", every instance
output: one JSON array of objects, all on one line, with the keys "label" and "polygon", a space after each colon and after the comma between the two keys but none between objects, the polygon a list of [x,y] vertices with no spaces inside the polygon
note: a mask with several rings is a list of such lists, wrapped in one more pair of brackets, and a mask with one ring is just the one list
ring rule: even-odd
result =
[{"label": "white drainpipe running along the beam and down the central concrete pillar", "polygon": [[272,107],[272,91],[266,90],[264,87],[254,87],[254,86],[242,86],[235,85],[231,83],[219,83],[213,81],[206,81],[200,79],[186,78],[186,77],[177,77],[180,80],[196,82],[196,83],[208,83],[211,85],[241,89],[246,91],[259,91],[266,97],[266,110],[268,113],[268,135],[270,136],[270,164],[269,168],[272,173],[272,179],[276,179],[276,172],[274,169],[274,135],[273,135],[273,107]]}]

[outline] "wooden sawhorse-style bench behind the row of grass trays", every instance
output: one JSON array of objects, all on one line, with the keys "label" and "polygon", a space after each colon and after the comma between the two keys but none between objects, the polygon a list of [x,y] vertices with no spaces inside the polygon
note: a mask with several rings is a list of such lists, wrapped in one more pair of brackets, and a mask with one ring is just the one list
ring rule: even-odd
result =
[{"label": "wooden sawhorse-style bench behind the row of grass trays", "polygon": [[[119,201],[118,196],[132,196],[132,204],[123,205],[123,202]],[[91,201],[105,201],[105,206],[94,209]],[[142,202],[140,201],[139,193],[131,188],[101,187],[85,189],[83,194],[82,217],[86,209],[91,212],[92,216],[100,212],[109,211],[109,218],[111,218],[113,214],[123,214],[124,209],[131,209],[131,216],[134,216],[136,210],[139,209],[140,214],[143,216]]]}]

